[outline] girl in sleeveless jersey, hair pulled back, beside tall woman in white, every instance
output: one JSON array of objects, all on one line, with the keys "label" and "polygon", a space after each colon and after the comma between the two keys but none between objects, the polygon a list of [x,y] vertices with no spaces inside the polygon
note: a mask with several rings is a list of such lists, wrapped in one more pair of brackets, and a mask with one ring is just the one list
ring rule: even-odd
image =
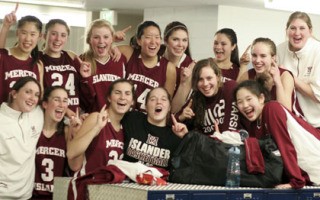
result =
[{"label": "girl in sleeveless jersey, hair pulled back, beside tall woman in white", "polygon": [[271,99],[277,100],[297,116],[302,116],[290,71],[278,66],[277,49],[269,38],[256,38],[251,45],[253,69],[241,76],[241,80],[254,80],[263,76],[265,87],[271,93]]}]

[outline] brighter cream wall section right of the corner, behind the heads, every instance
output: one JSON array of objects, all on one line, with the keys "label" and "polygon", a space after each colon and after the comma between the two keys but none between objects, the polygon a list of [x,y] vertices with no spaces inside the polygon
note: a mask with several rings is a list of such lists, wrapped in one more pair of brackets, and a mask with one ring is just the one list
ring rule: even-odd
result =
[{"label": "brighter cream wall section right of the corner, behind the heads", "polygon": [[[291,12],[219,6],[218,29],[229,27],[236,31],[240,56],[257,37],[268,37],[276,44],[286,40],[286,24]],[[320,16],[309,15],[313,32],[320,38]]]}]

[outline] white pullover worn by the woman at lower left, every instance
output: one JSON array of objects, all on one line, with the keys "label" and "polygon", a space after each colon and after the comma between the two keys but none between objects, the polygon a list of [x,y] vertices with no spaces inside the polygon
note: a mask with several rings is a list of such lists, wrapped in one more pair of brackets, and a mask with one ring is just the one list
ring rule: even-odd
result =
[{"label": "white pullover worn by the woman at lower left", "polygon": [[0,107],[0,199],[29,199],[34,187],[35,156],[43,112]]}]

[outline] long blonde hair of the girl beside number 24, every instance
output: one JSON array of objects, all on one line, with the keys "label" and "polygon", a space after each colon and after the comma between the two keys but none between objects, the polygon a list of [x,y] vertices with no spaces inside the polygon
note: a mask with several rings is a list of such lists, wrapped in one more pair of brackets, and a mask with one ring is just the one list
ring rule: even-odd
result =
[{"label": "long blonde hair of the girl beside number 24", "polygon": [[111,31],[112,37],[113,37],[113,35],[115,33],[115,30],[114,30],[112,24],[107,20],[96,19],[96,20],[91,22],[90,28],[88,29],[87,37],[86,37],[86,42],[89,45],[89,49],[84,53],[83,59],[86,62],[90,62],[92,75],[97,73],[97,65],[96,65],[96,62],[95,62],[95,59],[94,59],[94,52],[93,52],[92,47],[90,45],[90,39],[91,39],[91,36],[92,36],[92,30],[94,28],[101,28],[101,27],[106,27],[107,29],[109,29]]}]

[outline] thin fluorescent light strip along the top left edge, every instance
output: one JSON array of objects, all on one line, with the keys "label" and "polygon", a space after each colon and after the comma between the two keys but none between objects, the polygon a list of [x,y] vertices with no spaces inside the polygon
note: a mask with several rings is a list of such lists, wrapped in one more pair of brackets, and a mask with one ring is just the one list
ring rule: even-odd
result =
[{"label": "thin fluorescent light strip along the top left edge", "polygon": [[58,7],[68,7],[68,8],[84,8],[85,0],[1,0],[2,2],[10,3],[24,3],[24,4],[35,4],[35,5],[46,5],[46,6],[58,6]]}]

